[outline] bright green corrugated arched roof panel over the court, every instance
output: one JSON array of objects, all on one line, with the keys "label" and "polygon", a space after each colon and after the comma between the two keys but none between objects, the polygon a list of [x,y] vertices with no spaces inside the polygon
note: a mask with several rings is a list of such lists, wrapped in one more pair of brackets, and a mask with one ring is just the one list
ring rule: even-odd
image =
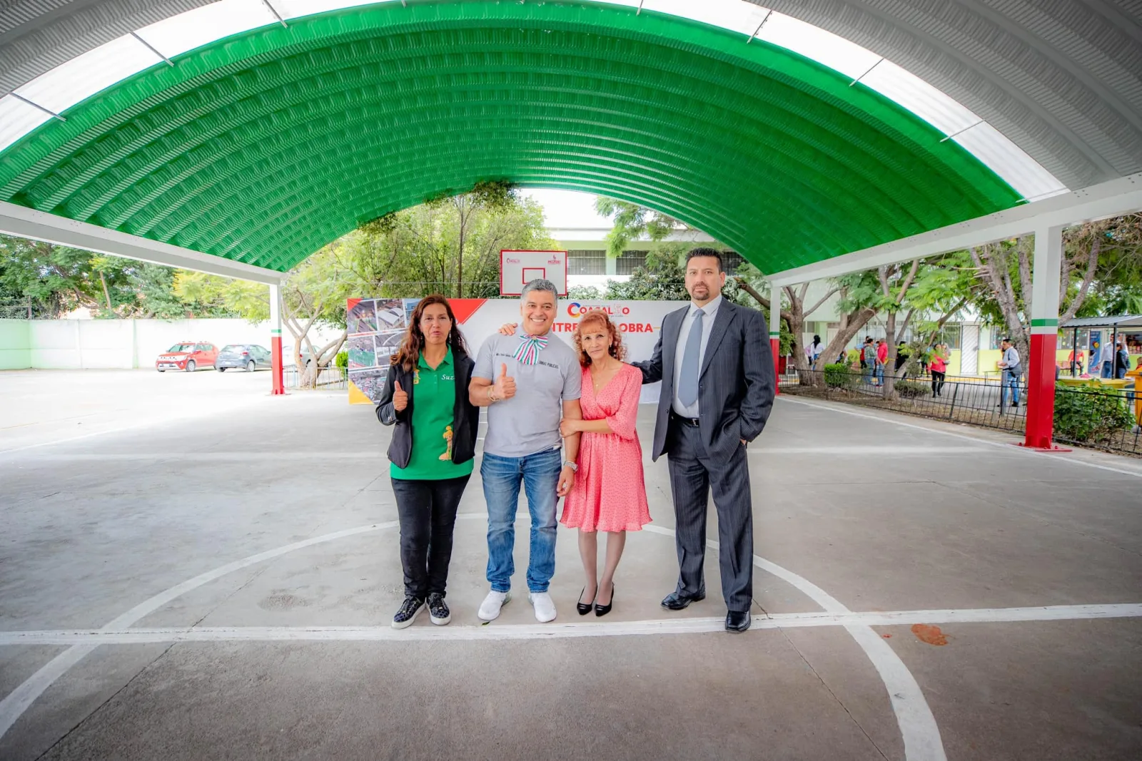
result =
[{"label": "bright green corrugated arched roof panel over the court", "polygon": [[361,221],[508,179],[652,207],[770,273],[1019,202],[831,70],[626,7],[367,6],[175,63],[0,153],[0,199],[286,270]]}]

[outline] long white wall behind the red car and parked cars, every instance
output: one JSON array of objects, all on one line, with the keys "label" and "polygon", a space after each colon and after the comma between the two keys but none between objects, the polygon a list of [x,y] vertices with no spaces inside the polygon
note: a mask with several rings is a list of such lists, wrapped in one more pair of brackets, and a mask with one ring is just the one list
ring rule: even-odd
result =
[{"label": "long white wall behind the red car and parked cars", "polygon": [[[153,367],[155,357],[179,341],[260,343],[270,348],[270,324],[244,319],[32,319],[27,325],[29,365],[40,370],[97,370]],[[316,348],[338,330],[311,331]],[[15,335],[15,333],[13,333]],[[0,333],[0,339],[5,333]],[[292,343],[283,331],[283,343]],[[7,341],[6,341],[7,342]],[[21,350],[23,347],[0,346]],[[289,357],[286,358],[289,363]]]}]

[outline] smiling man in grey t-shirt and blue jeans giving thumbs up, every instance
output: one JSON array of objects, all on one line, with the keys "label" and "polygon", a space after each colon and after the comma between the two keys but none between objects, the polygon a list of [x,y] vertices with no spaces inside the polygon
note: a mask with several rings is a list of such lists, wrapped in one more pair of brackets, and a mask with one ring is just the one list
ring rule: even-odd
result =
[{"label": "smiling man in grey t-shirt and blue jeans giving thumbs up", "polygon": [[510,600],[515,573],[515,513],[520,486],[531,513],[528,599],[536,618],[555,618],[547,592],[555,574],[555,504],[574,483],[579,435],[563,440],[560,420],[579,419],[582,369],[574,349],[550,334],[556,291],[550,281],[534,280],[520,297],[523,317],[515,335],[494,334],[476,355],[468,397],[488,410],[488,431],[480,477],[488,502],[488,581],[491,591],[480,617],[492,621]]}]

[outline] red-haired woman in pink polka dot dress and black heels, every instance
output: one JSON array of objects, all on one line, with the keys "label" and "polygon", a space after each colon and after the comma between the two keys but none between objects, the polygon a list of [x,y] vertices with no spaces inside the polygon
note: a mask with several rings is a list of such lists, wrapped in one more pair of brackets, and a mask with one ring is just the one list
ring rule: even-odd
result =
[{"label": "red-haired woman in pink polka dot dress and black heels", "polygon": [[[587,615],[594,607],[595,615],[603,616],[614,601],[614,572],[627,532],[641,531],[650,523],[642,446],[635,430],[642,372],[622,362],[622,337],[603,311],[584,315],[574,346],[582,364],[582,420],[564,420],[560,431],[563,436],[582,436],[579,472],[560,521],[579,529],[579,554],[587,583],[576,608]],[[602,577],[598,532],[606,532]]]}]

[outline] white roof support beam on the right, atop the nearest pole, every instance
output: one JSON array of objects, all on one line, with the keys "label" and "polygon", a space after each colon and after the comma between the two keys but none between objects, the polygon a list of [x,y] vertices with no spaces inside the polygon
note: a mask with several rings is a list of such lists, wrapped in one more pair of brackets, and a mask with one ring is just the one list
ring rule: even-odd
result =
[{"label": "white roof support beam on the right, atop the nearest pole", "polygon": [[1139,210],[1142,210],[1142,172],[774,273],[770,280],[778,285],[794,285],[822,277],[838,277],[882,265],[962,251],[1045,227],[1076,225]]}]

